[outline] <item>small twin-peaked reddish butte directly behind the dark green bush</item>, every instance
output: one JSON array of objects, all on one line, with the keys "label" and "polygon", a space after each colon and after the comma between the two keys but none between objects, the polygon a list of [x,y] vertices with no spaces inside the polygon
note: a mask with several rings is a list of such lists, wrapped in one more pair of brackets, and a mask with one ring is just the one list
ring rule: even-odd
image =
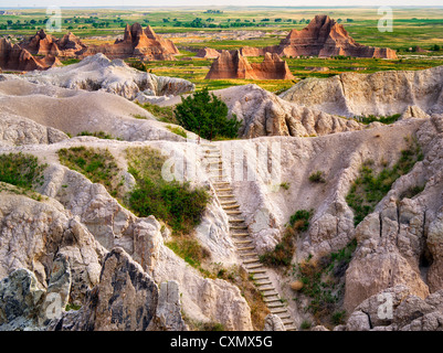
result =
[{"label": "small twin-peaked reddish butte directly behind the dark green bush", "polygon": [[260,64],[250,64],[239,51],[223,51],[212,63],[205,79],[293,79],[287,63],[276,54],[266,53]]}]

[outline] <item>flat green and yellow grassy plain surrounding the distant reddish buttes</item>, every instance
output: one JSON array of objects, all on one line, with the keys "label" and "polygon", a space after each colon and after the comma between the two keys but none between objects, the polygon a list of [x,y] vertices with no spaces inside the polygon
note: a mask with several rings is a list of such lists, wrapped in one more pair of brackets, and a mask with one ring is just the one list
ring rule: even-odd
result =
[{"label": "flat green and yellow grassy plain surrounding the distant reddish buttes", "polygon": [[[1,9],[0,9],[1,10]],[[44,28],[48,19],[44,9],[9,9],[0,15],[0,36],[13,41],[32,35]],[[175,62],[148,62],[147,68],[158,75],[182,77],[193,82],[197,89],[208,86],[220,89],[249,83],[274,93],[282,92],[294,81],[205,81],[212,61],[196,58],[200,47],[233,50],[242,46],[278,44],[291,29],[303,29],[316,14],[328,14],[341,24],[359,43],[388,46],[398,51],[399,60],[373,58],[287,58],[295,82],[305,77],[328,77],[342,72],[373,73],[388,69],[423,69],[443,65],[443,51],[410,53],[410,47],[429,50],[443,47],[443,7],[393,8],[393,31],[379,32],[382,17],[378,8],[139,8],[139,9],[62,9],[62,36],[72,31],[86,44],[113,43],[123,34],[126,23],[151,25],[158,34],[171,39],[181,55]],[[200,20],[197,20],[200,19]],[[18,22],[19,21],[19,22]],[[250,57],[250,62],[261,61]],[[66,64],[75,61],[66,62]],[[327,71],[313,71],[327,67]]]}]

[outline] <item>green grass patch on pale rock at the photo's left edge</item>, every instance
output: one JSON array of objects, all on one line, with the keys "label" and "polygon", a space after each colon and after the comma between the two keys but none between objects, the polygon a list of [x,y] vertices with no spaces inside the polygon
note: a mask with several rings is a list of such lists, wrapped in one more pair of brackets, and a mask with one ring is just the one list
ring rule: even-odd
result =
[{"label": "green grass patch on pale rock at the photo's left edge", "polygon": [[39,159],[32,154],[0,154],[0,181],[24,190],[33,190],[36,185],[42,185],[46,167],[48,164],[40,164]]}]

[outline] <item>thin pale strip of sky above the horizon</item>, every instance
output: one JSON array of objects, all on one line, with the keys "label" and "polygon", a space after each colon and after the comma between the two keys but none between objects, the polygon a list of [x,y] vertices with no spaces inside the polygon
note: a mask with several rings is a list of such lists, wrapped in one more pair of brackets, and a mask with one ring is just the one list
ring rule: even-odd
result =
[{"label": "thin pale strip of sky above the horizon", "polygon": [[[308,6],[306,4],[308,2]],[[222,6],[281,6],[281,7],[351,7],[351,6],[412,6],[432,7],[443,6],[442,0],[0,0],[1,8],[35,7],[45,8],[57,7],[176,7],[176,6],[201,6],[201,7],[222,7]]]}]

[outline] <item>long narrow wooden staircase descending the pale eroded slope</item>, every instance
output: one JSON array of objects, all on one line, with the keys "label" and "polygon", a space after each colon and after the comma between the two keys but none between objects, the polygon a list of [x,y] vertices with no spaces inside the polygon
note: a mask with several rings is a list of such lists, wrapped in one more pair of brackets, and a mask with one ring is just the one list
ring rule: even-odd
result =
[{"label": "long narrow wooden staircase descending the pale eroded slope", "polygon": [[296,331],[294,321],[283,303],[278,292],[274,288],[266,268],[260,261],[254,243],[250,236],[247,225],[244,222],[240,205],[236,203],[231,183],[223,173],[223,162],[220,149],[209,142],[201,143],[204,150],[203,159],[208,163],[210,181],[215,189],[215,195],[228,215],[230,235],[233,237],[238,254],[257,289],[262,292],[264,301],[270,311],[282,319],[286,331]]}]

